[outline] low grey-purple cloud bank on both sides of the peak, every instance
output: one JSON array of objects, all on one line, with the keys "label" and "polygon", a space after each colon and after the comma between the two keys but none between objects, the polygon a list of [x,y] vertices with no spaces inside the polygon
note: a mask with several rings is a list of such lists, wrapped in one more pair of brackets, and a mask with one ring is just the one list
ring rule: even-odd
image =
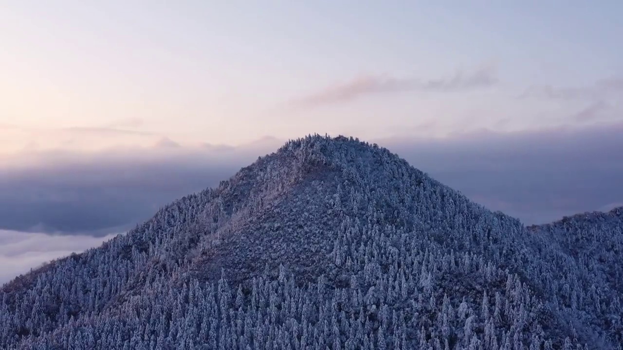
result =
[{"label": "low grey-purple cloud bank on both sides of the peak", "polygon": [[[489,209],[540,224],[623,204],[621,135],[623,124],[369,141]],[[0,168],[0,282],[99,245],[281,143],[21,154]]]}]

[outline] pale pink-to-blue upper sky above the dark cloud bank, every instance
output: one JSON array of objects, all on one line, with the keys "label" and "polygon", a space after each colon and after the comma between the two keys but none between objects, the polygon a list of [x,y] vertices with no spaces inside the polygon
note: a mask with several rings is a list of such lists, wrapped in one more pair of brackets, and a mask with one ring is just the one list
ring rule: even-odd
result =
[{"label": "pale pink-to-blue upper sky above the dark cloud bank", "polygon": [[622,120],[621,1],[10,1],[0,154]]}]

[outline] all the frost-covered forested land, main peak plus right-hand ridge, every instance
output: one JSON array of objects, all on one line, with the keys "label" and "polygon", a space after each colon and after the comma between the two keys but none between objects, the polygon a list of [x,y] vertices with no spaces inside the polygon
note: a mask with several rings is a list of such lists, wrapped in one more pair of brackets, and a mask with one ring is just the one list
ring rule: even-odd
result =
[{"label": "all the frost-covered forested land, main peak plus right-hand ridge", "polygon": [[526,229],[387,149],[289,141],[0,290],[7,349],[617,349],[621,210]]}]

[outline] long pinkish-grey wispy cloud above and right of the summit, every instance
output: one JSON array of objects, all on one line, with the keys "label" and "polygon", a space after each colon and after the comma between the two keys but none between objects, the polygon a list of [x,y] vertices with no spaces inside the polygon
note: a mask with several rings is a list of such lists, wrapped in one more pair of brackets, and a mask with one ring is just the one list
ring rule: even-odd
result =
[{"label": "long pinkish-grey wispy cloud above and right of the summit", "polygon": [[396,92],[452,92],[490,87],[498,83],[497,69],[487,65],[473,72],[459,71],[451,77],[424,80],[421,78],[394,78],[368,75],[350,82],[328,87],[317,93],[293,101],[295,105],[314,107],[341,103],[381,93]]}]

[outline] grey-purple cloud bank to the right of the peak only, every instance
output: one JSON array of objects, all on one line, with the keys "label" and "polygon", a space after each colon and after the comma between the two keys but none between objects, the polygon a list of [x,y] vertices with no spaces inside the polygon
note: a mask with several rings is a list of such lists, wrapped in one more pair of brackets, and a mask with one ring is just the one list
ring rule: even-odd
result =
[{"label": "grey-purple cloud bank to the right of the peak only", "polygon": [[623,202],[621,135],[623,123],[384,143],[473,201],[541,224]]}]

